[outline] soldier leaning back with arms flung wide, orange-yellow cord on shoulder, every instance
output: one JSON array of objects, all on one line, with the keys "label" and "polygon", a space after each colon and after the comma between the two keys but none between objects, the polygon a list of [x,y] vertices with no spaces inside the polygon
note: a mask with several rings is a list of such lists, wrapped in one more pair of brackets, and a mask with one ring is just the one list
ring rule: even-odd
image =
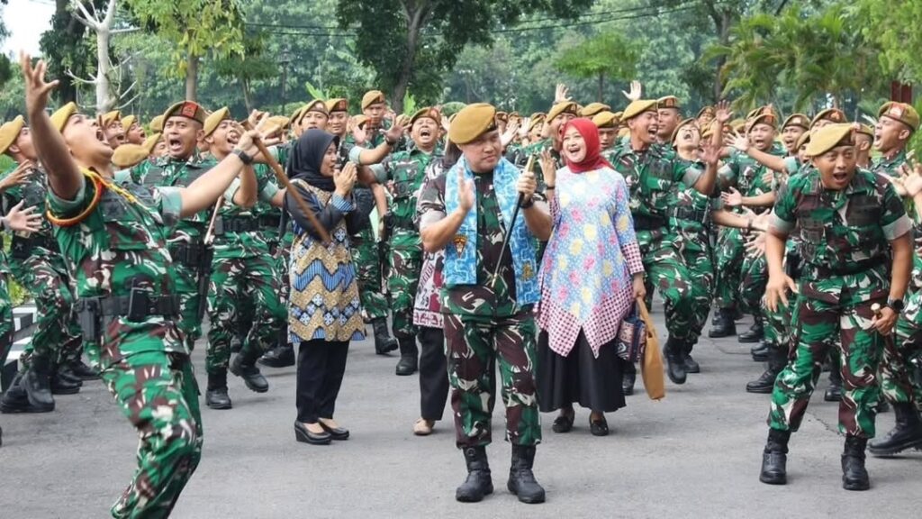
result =
[{"label": "soldier leaning back with arms flung wide, orange-yellow cord on shoulder", "polygon": [[166,238],[172,224],[207,209],[231,184],[255,152],[252,136],[242,139],[242,155],[190,187],[118,187],[112,148],[96,120],[73,104],[46,115],[54,85],[44,81],[43,62],[30,63],[22,55],[30,127],[47,167],[49,218],[74,280],[87,355],[140,440],[134,480],[112,516],[167,517],[198,465],[202,424],[189,349],[175,320]]}]

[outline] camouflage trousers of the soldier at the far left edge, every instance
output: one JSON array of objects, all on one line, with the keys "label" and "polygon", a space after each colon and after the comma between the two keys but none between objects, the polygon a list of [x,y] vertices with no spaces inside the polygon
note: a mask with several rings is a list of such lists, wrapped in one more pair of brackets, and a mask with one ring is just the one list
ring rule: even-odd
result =
[{"label": "camouflage trousers of the soldier at the far left edge", "polygon": [[35,332],[19,357],[19,371],[25,373],[35,357],[66,365],[76,362],[83,351],[83,338],[73,308],[74,294],[64,259],[47,249],[42,254],[14,259],[13,275],[30,292],[37,315]]}]

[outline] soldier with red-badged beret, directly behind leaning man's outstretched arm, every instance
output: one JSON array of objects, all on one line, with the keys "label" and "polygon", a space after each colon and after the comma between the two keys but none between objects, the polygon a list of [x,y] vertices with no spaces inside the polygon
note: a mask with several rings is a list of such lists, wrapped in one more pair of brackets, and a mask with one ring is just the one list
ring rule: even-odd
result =
[{"label": "soldier with red-badged beret, directly behind leaning man's outstretched arm", "polygon": [[[188,187],[214,167],[215,161],[199,154],[205,110],[195,103],[176,103],[163,113],[163,140],[167,155],[140,163],[131,169],[132,181],[148,187]],[[200,294],[199,277],[211,267],[210,252],[203,238],[211,211],[184,216],[169,239],[170,256],[176,269],[176,292],[180,296],[180,328],[186,347],[192,350],[202,336],[206,304]]]}]

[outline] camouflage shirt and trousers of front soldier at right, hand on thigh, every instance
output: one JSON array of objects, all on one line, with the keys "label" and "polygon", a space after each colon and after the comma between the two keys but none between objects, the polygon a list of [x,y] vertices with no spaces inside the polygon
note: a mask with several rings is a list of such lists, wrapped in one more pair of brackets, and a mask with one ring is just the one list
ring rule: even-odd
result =
[{"label": "camouflage shirt and trousers of front soldier at right, hand on thigh", "polygon": [[870,308],[889,294],[888,240],[910,229],[903,203],[869,171],[859,169],[844,190],[829,191],[812,170],[781,189],[773,227],[785,233],[798,228],[804,263],[791,319],[794,351],[775,380],[769,426],[798,429],[822,359],[837,339],[844,359],[839,429],[872,438],[884,340],[869,330]]}]

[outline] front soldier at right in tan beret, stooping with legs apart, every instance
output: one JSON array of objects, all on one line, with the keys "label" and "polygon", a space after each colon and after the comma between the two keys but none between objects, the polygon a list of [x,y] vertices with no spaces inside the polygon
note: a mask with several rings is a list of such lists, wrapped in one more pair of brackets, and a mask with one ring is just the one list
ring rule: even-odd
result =
[{"label": "front soldier at right in tan beret, stooping with legs apart", "polygon": [[[826,351],[837,343],[843,358],[843,487],[865,490],[870,487],[865,448],[874,437],[881,392],[877,371],[883,344],[892,340],[887,336],[903,308],[912,224],[891,184],[857,168],[851,126],[823,127],[811,137],[807,154],[816,169],[788,180],[766,236],[766,306],[774,311],[779,299],[786,303],[787,290],[797,294],[791,322],[796,347],[774,383],[760,480],[786,483],[791,431],[800,426]],[[803,260],[799,286],[782,269],[785,241],[795,229]],[[882,308],[875,311],[874,304]]]}]

